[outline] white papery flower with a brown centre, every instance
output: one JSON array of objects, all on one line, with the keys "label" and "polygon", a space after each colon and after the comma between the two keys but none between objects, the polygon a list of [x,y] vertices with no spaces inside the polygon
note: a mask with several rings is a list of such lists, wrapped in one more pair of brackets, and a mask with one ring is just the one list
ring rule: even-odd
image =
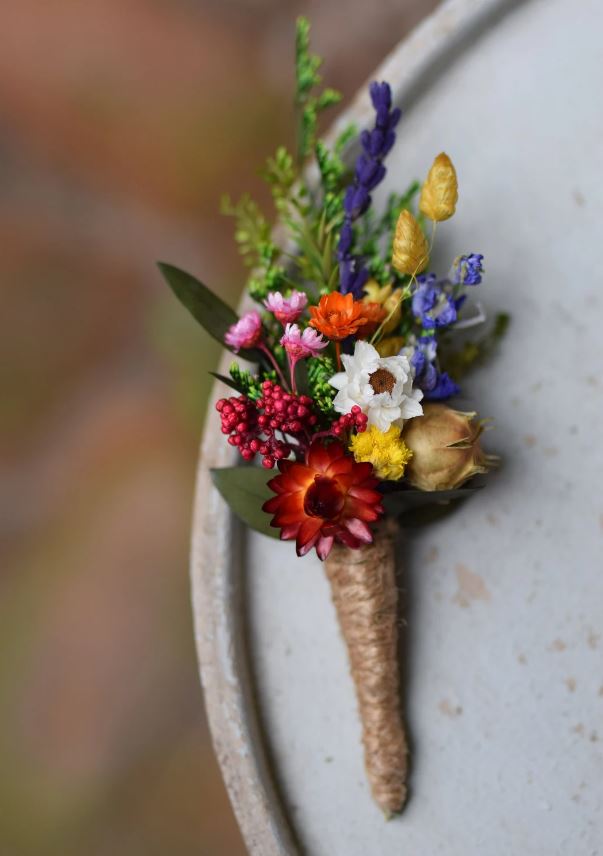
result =
[{"label": "white papery flower with a brown centre", "polygon": [[423,392],[413,389],[408,357],[380,357],[376,348],[361,340],[353,356],[344,354],[341,361],[345,371],[329,381],[338,390],[333,401],[338,413],[349,413],[357,404],[368,416],[368,424],[383,432],[422,415]]}]

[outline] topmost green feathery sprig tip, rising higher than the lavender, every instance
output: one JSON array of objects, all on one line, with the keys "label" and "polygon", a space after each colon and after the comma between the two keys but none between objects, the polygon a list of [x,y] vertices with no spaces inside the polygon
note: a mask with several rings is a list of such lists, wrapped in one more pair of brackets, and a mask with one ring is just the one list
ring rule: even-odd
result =
[{"label": "topmost green feathery sprig tip, rising higher than the lavender", "polygon": [[300,164],[314,148],[319,114],[341,101],[341,93],[335,89],[326,88],[313,94],[322,82],[321,65],[321,58],[310,53],[310,22],[300,17],[295,34],[295,105],[299,113],[297,160]]}]

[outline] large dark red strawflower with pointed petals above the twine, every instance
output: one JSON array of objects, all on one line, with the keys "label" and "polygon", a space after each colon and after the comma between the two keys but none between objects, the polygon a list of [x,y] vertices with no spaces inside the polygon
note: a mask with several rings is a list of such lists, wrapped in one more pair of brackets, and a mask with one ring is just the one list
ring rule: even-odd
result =
[{"label": "large dark red strawflower with pointed petals above the twine", "polygon": [[326,559],[334,541],[353,549],[372,542],[367,524],[383,514],[372,464],[356,463],[341,443],[315,440],[305,464],[281,460],[278,468],[268,482],[276,496],[262,508],[274,514],[282,541],[296,539],[298,556],[316,547]]}]

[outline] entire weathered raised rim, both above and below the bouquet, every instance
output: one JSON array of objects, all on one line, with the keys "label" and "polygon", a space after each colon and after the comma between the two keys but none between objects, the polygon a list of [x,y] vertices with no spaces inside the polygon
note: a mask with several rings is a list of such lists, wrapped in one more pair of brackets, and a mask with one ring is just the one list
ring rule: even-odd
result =
[{"label": "entire weathered raised rim, both above and below the bouquet", "polygon": [[[371,79],[394,81],[395,102],[408,107],[464,40],[515,5],[519,0],[448,0],[410,33]],[[366,87],[338,117],[327,141],[351,121],[359,128],[372,121]],[[242,308],[249,302],[245,299]],[[220,371],[227,373],[230,362],[225,354]],[[214,749],[247,849],[252,856],[295,856],[299,850],[266,760],[245,651],[240,555],[244,541],[209,472],[211,467],[232,465],[236,455],[212,421],[214,404],[223,394],[219,387],[214,385],[208,403],[193,510],[190,574],[201,683]]]}]

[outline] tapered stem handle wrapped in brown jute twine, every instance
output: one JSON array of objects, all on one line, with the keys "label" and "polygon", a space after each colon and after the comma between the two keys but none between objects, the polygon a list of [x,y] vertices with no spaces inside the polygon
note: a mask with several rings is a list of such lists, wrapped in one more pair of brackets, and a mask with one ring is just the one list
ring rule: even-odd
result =
[{"label": "tapered stem handle wrapped in brown jute twine", "polygon": [[408,769],[400,710],[396,530],[386,522],[372,544],[359,550],[337,544],[325,561],[356,685],[366,772],[387,817],[402,810]]}]

